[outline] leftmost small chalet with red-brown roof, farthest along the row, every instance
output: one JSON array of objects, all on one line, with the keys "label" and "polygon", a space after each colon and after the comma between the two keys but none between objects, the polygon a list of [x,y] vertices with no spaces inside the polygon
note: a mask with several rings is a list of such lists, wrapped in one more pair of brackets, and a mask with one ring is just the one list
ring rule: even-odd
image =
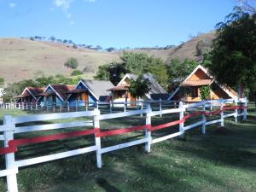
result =
[{"label": "leftmost small chalet with red-brown roof, farthest along the row", "polygon": [[15,96],[15,102],[32,102],[38,100],[38,94],[44,92],[44,87],[26,87],[19,96]]}]

